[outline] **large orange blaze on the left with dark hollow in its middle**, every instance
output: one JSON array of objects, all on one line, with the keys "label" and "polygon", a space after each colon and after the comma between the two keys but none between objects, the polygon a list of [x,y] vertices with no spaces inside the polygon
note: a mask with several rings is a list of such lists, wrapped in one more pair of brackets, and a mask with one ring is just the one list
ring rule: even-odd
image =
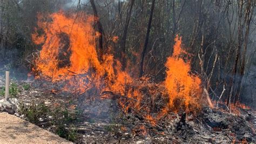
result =
[{"label": "large orange blaze on the left with dark hollow in its middle", "polygon": [[[67,16],[61,11],[49,15],[48,19],[38,16],[38,28],[32,34],[33,42],[42,44],[33,68],[36,78],[52,82],[65,80],[69,83],[66,90],[76,85],[79,88],[76,91],[83,91],[92,81],[101,81],[105,73],[113,76],[113,68],[109,67],[113,56],[104,55],[103,63],[98,60],[95,48],[98,34],[93,34],[92,24],[92,16],[76,18],[75,14]],[[94,84],[100,87],[99,83]]]}]

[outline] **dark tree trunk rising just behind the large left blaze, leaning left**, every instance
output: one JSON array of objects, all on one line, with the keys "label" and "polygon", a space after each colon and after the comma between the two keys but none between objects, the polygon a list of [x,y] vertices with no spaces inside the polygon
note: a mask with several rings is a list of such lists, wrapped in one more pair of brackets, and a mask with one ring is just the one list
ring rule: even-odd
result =
[{"label": "dark tree trunk rising just behind the large left blaze, leaning left", "polygon": [[103,42],[104,42],[104,35],[105,34],[104,34],[103,27],[102,27],[102,23],[100,23],[100,20],[99,20],[99,16],[98,16],[98,12],[97,12],[94,0],[90,0],[90,3],[91,3],[91,6],[92,6],[92,10],[93,10],[95,19],[97,19],[96,24],[97,24],[98,31],[99,31],[99,34],[100,34],[99,35],[99,60],[102,61],[103,60],[103,52],[104,52]]}]

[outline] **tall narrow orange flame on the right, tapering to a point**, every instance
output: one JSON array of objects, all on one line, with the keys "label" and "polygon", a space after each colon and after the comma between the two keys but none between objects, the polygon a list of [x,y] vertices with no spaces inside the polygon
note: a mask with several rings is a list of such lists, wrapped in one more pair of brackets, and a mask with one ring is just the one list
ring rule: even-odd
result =
[{"label": "tall narrow orange flame on the right, tapering to a point", "polygon": [[198,107],[201,80],[191,73],[190,61],[181,58],[186,52],[181,48],[181,38],[176,37],[173,55],[167,59],[165,87],[169,93],[169,107],[175,110]]}]

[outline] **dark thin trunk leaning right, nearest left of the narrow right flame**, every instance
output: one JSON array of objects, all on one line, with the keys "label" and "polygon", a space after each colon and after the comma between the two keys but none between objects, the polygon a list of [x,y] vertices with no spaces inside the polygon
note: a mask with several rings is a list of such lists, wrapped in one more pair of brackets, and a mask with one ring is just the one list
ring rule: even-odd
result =
[{"label": "dark thin trunk leaning right, nearest left of the narrow right flame", "polygon": [[150,10],[150,19],[149,19],[149,24],[147,25],[147,34],[146,34],[145,44],[142,51],[142,59],[140,60],[139,77],[142,77],[144,73],[143,64],[144,64],[145,53],[147,50],[147,43],[149,43],[149,34],[150,34],[150,28],[151,28],[151,23],[153,18],[154,2],[155,0],[152,0],[151,10]]}]

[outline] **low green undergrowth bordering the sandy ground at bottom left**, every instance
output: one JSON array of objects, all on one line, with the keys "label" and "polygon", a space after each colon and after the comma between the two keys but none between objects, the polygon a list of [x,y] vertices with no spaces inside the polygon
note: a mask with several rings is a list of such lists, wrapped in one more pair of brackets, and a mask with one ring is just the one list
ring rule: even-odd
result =
[{"label": "low green undergrowth bordering the sandy ground at bottom left", "polygon": [[[79,116],[81,114],[77,109],[75,112],[63,109],[62,107],[50,110],[44,103],[32,103],[29,106],[20,104],[19,113],[24,114],[26,119],[36,125],[40,125],[47,121],[49,124],[48,127],[52,128],[51,131],[66,140],[76,142],[79,138],[77,128],[73,125],[73,123],[79,121]],[[51,119],[49,116],[51,116]],[[40,118],[44,121],[39,121]]]}]

